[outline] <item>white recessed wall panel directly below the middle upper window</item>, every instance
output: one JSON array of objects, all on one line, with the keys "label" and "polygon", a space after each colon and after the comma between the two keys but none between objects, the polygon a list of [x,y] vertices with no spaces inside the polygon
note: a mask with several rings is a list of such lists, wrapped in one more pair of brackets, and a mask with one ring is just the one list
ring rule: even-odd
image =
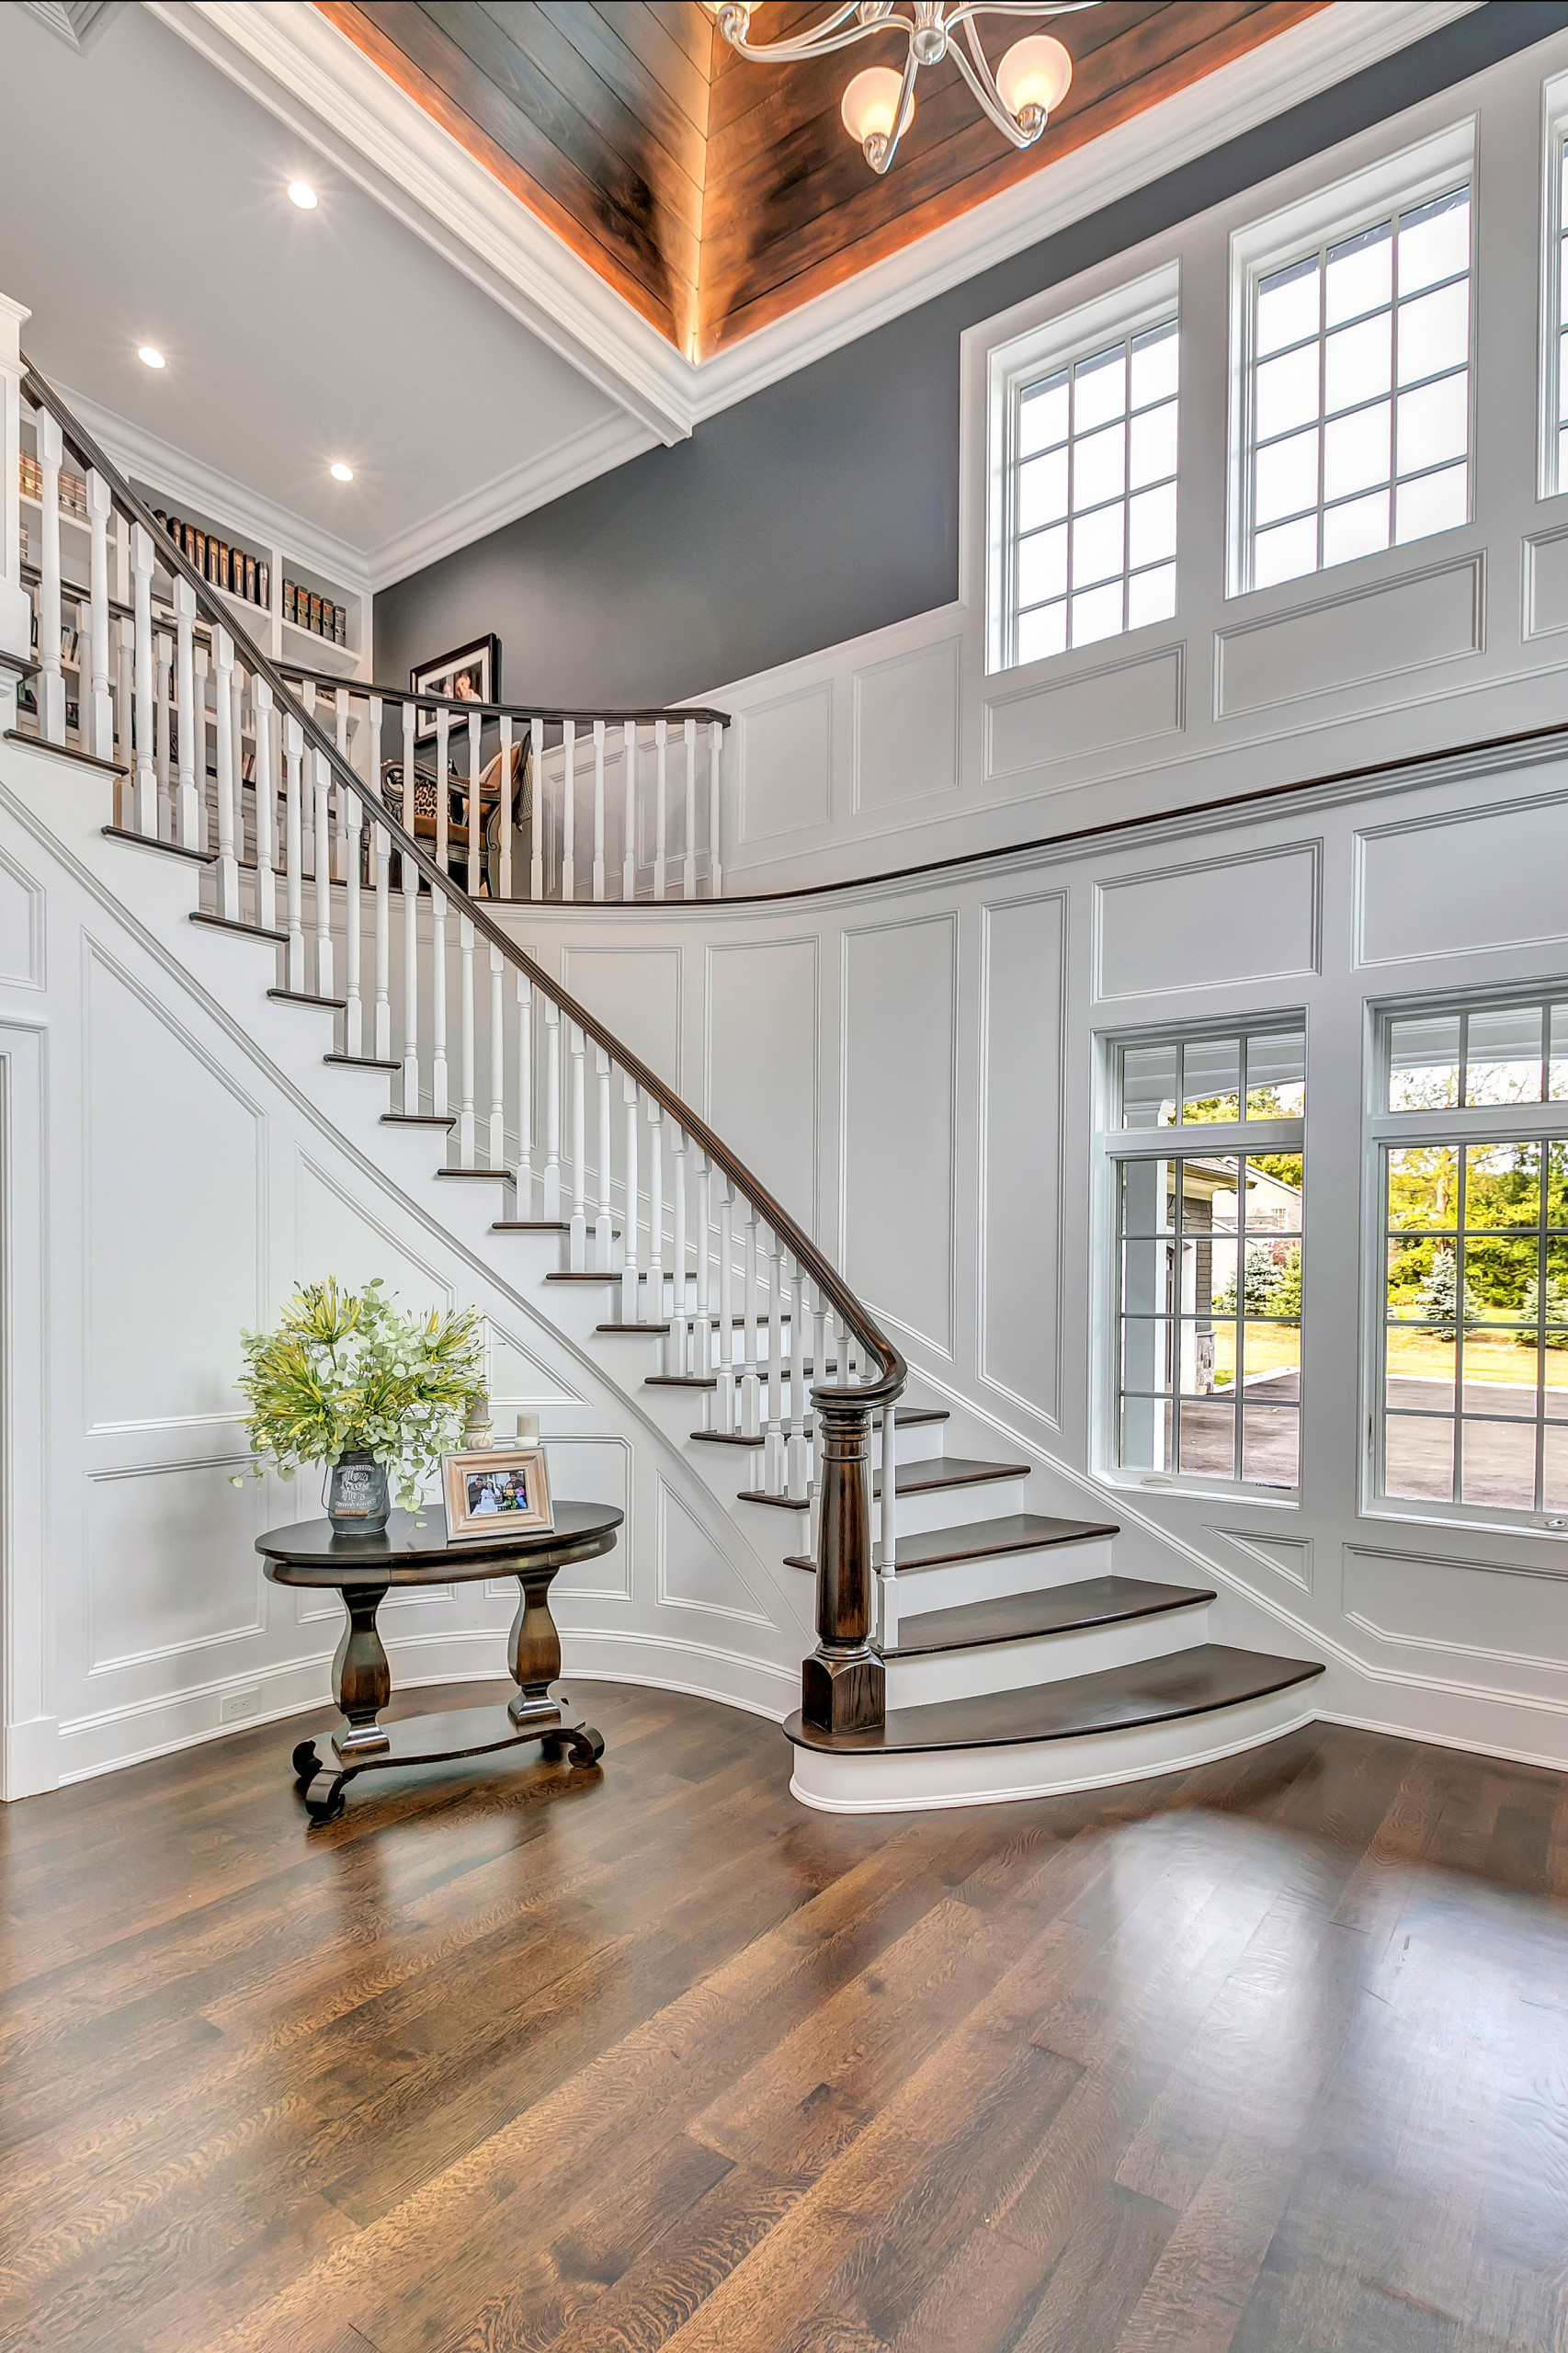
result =
[{"label": "white recessed wall panel directly below the middle upper window", "polygon": [[1486,555],[1215,631],[1215,718],[1403,678],[1486,645]]}]

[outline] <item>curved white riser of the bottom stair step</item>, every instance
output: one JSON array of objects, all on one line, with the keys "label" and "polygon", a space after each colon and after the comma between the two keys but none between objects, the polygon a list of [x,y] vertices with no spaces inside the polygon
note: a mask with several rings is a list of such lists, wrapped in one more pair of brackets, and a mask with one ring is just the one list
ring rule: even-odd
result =
[{"label": "curved white riser of the bottom stair step", "polygon": [[1114,1781],[1187,1772],[1295,1732],[1314,1720],[1314,1694],[1316,1685],[1307,1682],[1165,1725],[1003,1748],[928,1748],[918,1755],[824,1755],[796,1748],[789,1788],[824,1814],[909,1814],[939,1805],[1005,1805],[1074,1788],[1109,1788]]}]

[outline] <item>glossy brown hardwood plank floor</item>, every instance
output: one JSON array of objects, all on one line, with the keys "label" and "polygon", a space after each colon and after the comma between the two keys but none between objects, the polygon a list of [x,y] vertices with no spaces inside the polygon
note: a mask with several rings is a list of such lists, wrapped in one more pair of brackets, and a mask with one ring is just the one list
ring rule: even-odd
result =
[{"label": "glossy brown hardwood plank floor", "polygon": [[0,1812],[7,2353],[1568,2344],[1568,1779],[848,1821],[570,1692],[603,1772],[306,1831],[308,1715]]}]

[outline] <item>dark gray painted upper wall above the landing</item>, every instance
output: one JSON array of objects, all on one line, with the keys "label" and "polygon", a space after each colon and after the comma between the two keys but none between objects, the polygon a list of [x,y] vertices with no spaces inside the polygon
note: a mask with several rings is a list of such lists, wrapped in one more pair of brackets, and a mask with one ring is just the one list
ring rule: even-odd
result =
[{"label": "dark gray painted upper wall above the landing", "polygon": [[1568,24],[1490,0],[377,598],[377,678],[494,628],[509,701],[664,704],[958,593],[958,336]]}]

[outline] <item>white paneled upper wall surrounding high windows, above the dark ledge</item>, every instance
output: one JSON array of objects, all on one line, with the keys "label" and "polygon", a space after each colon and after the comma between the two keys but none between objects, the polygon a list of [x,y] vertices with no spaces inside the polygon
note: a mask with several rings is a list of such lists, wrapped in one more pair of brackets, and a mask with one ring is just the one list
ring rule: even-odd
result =
[{"label": "white paneled upper wall surrounding high windows, above the dark ledge", "polygon": [[[1542,82],[1566,66],[1568,35],[1556,33],[968,329],[956,602],[702,694],[735,713],[742,746],[725,779],[725,887],[890,873],[1552,725],[1568,628],[1568,489],[1542,496],[1537,468]],[[1462,132],[1457,153],[1471,125],[1469,520],[1309,579],[1227,593],[1231,240],[1245,242],[1250,226],[1290,207],[1311,209],[1368,169],[1389,165],[1394,186],[1403,151]],[[991,671],[991,362],[1067,313],[1114,306],[1144,282],[1175,285],[1177,273],[1175,619]],[[956,779],[942,788],[951,647]],[[913,758],[909,744],[923,727],[932,744]]]}]

